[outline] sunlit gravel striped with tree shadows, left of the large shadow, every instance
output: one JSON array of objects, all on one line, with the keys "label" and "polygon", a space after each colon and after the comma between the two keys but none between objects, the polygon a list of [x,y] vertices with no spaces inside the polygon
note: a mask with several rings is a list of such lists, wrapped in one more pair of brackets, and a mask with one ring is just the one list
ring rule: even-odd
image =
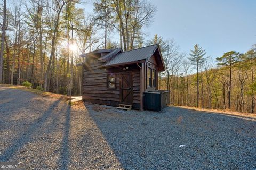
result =
[{"label": "sunlit gravel striped with tree shadows, left of the large shadow", "polygon": [[0,86],[0,161],[27,169],[121,168],[84,108]]}]

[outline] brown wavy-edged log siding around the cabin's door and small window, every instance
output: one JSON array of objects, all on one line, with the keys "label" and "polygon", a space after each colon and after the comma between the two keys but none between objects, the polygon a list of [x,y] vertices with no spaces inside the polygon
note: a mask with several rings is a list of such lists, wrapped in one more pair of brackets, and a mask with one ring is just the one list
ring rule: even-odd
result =
[{"label": "brown wavy-edged log siding around the cabin's door and small window", "polygon": [[[89,65],[88,63],[87,65]],[[86,65],[86,64],[85,64]],[[121,72],[131,72],[133,87],[133,108],[140,109],[140,69],[137,65],[127,65],[126,71],[120,68],[104,69],[100,66],[102,62],[90,64],[90,67],[83,66],[83,101],[117,107],[120,102],[120,74]],[[115,74],[116,87],[107,87],[107,77]]]}]

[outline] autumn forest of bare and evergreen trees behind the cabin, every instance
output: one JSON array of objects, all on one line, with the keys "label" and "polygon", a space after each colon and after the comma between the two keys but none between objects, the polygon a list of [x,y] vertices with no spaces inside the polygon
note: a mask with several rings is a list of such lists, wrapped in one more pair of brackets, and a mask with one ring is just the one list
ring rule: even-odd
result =
[{"label": "autumn forest of bare and evergreen trees behind the cabin", "polygon": [[[131,50],[159,44],[165,71],[159,89],[171,105],[256,113],[256,45],[246,53],[208,56],[195,42],[186,54],[172,37],[144,28],[154,23],[147,0],[96,0],[93,13],[79,0],[3,0],[0,9],[0,83],[29,84],[42,91],[80,96],[79,54],[95,49]],[[113,40],[118,37],[118,41]]]}]

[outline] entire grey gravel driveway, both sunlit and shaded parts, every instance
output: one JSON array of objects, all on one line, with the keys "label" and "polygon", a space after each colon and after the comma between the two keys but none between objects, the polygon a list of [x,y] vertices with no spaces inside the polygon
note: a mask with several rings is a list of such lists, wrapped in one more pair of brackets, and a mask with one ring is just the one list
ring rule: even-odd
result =
[{"label": "entire grey gravel driveway, both sunlit and shaded parts", "polygon": [[0,86],[0,161],[28,169],[256,169],[254,119],[119,111]]}]

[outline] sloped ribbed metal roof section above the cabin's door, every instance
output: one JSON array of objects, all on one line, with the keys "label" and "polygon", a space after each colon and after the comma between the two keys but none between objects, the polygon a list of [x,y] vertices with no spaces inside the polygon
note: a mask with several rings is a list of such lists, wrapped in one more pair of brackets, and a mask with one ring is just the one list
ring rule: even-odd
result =
[{"label": "sloped ribbed metal roof section above the cabin's door", "polygon": [[102,67],[111,67],[115,65],[123,65],[126,63],[129,64],[146,60],[154,54],[157,48],[158,45],[155,44],[120,53],[109,60],[107,63],[103,64]]}]

